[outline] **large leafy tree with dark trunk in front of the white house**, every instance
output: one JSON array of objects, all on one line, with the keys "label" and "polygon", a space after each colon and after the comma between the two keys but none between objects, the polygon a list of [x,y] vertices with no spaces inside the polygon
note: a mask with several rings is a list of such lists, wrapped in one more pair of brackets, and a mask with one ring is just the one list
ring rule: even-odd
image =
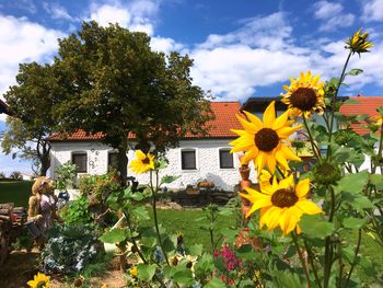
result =
[{"label": "large leafy tree with dark trunk in front of the white house", "polygon": [[186,133],[206,133],[212,116],[205,92],[192,84],[188,56],[153,51],[147,34],[117,24],[83,23],[59,41],[55,66],[67,90],[55,105],[61,131],[103,133],[103,141],[118,149],[123,183],[129,133],[139,148],[153,142],[164,151]]}]

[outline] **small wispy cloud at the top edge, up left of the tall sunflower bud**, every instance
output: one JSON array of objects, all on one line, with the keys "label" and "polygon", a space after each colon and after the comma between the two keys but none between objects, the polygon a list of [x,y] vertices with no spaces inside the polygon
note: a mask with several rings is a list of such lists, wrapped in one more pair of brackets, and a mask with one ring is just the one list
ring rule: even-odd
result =
[{"label": "small wispy cloud at the top edge, up left of the tall sunflower bud", "polygon": [[344,13],[340,3],[333,3],[321,0],[314,3],[314,16],[322,21],[320,31],[335,31],[339,27],[348,27],[353,24],[355,15]]}]

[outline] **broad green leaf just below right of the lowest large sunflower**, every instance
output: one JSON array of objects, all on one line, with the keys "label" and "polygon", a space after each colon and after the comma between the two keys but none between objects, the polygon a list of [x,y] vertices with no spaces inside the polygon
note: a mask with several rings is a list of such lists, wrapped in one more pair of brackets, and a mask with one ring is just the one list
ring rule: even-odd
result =
[{"label": "broad green leaf just below right of the lowest large sunflower", "polygon": [[309,238],[325,238],[333,233],[334,223],[323,219],[322,216],[304,215],[299,222],[302,232]]}]

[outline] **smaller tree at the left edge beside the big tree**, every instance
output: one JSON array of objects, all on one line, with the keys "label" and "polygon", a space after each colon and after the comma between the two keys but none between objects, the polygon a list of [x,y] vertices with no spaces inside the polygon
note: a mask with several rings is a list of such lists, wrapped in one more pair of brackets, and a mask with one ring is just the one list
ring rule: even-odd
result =
[{"label": "smaller tree at the left edge beside the big tree", "polygon": [[[5,154],[32,160],[46,175],[50,165],[50,145],[47,137],[54,131],[53,105],[59,93],[54,68],[36,62],[22,64],[16,85],[4,94],[12,116],[7,118],[7,130],[1,134]],[[16,150],[16,152],[14,152]]]}]

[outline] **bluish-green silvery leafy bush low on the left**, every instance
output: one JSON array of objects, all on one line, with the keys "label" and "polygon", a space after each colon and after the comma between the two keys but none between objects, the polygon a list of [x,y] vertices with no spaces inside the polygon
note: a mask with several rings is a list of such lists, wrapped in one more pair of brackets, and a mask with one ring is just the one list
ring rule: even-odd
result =
[{"label": "bluish-green silvery leafy bush low on the left", "polygon": [[56,226],[48,230],[47,237],[42,252],[44,273],[74,274],[105,254],[91,226]]}]

